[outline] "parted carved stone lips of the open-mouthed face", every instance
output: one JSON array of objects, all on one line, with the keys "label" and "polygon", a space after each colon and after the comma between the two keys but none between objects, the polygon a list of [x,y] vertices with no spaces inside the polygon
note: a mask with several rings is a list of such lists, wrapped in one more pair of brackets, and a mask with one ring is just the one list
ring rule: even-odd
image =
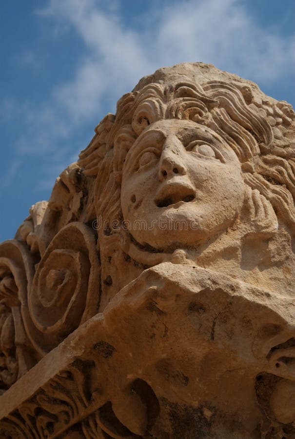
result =
[{"label": "parted carved stone lips of the open-mouthed face", "polygon": [[188,203],[195,200],[196,190],[183,180],[169,180],[157,191],[155,203],[157,207],[167,207],[179,202]]}]

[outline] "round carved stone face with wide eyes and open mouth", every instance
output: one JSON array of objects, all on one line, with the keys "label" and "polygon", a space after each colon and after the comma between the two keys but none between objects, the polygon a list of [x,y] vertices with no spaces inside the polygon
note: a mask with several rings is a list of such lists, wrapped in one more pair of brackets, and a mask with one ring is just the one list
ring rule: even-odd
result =
[{"label": "round carved stone face with wide eyes and open mouth", "polygon": [[235,153],[214,131],[191,120],[160,120],[127,154],[123,217],[141,244],[197,246],[235,221],[244,190]]}]

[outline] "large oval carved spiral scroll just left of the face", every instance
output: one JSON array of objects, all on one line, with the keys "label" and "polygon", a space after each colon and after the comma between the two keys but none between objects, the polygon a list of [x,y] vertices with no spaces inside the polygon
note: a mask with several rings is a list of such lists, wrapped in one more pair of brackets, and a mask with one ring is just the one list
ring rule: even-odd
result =
[{"label": "large oval carved spiral scroll just left of the face", "polygon": [[27,332],[41,355],[97,312],[99,285],[93,231],[82,223],[68,224],[49,244],[23,304]]}]

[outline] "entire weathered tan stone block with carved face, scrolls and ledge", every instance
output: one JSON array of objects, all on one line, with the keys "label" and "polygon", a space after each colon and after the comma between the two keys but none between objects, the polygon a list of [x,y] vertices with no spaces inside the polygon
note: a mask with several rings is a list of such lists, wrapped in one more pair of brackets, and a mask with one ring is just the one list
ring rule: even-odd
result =
[{"label": "entire weathered tan stone block with carved face, scrolls and ledge", "polygon": [[295,438],[294,120],[203,63],[118,101],[0,245],[1,438]]}]

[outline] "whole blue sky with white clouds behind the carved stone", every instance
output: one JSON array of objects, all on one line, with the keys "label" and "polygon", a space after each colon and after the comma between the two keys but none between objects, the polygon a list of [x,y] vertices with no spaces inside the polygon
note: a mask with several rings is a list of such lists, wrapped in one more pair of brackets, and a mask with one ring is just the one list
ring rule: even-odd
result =
[{"label": "whole blue sky with white clouds behind the carved stone", "polygon": [[210,62],[295,106],[294,23],[294,0],[2,1],[0,241],[158,67]]}]

